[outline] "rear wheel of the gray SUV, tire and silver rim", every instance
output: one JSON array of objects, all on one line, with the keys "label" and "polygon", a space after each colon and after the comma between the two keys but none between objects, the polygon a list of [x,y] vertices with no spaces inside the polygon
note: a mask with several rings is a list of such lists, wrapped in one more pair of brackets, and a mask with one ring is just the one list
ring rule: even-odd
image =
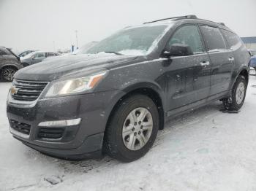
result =
[{"label": "rear wheel of the gray SUV, tire and silver rim", "polygon": [[[242,91],[244,89],[244,91]],[[239,75],[231,90],[229,98],[222,101],[223,106],[227,110],[238,111],[244,104],[246,96],[247,82],[244,76]]]}]

